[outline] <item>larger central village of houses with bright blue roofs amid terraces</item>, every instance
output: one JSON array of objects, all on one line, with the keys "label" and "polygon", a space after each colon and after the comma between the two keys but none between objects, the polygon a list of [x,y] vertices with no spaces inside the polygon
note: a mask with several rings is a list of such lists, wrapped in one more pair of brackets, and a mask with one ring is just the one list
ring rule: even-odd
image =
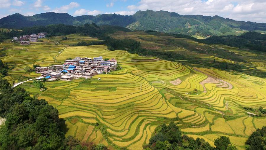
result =
[{"label": "larger central village of houses with bright blue roofs amid terraces", "polygon": [[36,79],[61,79],[70,81],[74,78],[91,78],[97,74],[108,73],[116,70],[117,61],[115,59],[104,60],[102,56],[95,58],[76,57],[72,60],[65,60],[63,65],[53,65],[50,67],[36,67],[36,73],[41,76]]}]

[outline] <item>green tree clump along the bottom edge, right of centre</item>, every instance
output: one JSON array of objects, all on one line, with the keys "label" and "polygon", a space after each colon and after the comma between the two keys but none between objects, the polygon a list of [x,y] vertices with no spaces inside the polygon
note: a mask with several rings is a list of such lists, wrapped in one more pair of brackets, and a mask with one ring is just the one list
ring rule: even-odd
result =
[{"label": "green tree clump along the bottom edge, right of centre", "polygon": [[145,150],[236,150],[236,146],[231,145],[228,137],[221,136],[215,139],[216,148],[210,146],[202,138],[194,140],[187,135],[182,135],[179,127],[171,122],[168,126],[163,124],[160,126],[160,131],[152,136],[149,144],[145,146]]}]

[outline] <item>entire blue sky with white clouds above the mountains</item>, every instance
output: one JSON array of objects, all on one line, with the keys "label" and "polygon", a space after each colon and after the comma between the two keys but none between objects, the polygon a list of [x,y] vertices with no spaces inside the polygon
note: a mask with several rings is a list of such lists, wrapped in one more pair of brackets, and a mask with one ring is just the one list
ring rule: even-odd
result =
[{"label": "entire blue sky with white clouds above the mountains", "polygon": [[138,10],[165,10],[181,15],[219,15],[239,21],[266,22],[265,0],[1,0],[0,18],[14,13],[42,12],[72,16],[116,13],[133,15]]}]

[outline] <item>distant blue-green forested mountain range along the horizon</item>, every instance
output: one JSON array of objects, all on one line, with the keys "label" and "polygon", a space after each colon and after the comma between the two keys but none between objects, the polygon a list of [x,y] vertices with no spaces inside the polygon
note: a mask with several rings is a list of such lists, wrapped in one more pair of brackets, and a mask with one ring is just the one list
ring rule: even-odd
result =
[{"label": "distant blue-green forested mountain range along the horizon", "polygon": [[266,23],[236,21],[219,16],[179,15],[167,11],[138,11],[134,15],[82,15],[73,17],[67,13],[46,12],[33,16],[13,14],[0,19],[0,28],[24,28],[35,25],[63,23],[66,25],[118,25],[130,30],[154,30],[185,35],[236,35],[239,31],[266,31]]}]

